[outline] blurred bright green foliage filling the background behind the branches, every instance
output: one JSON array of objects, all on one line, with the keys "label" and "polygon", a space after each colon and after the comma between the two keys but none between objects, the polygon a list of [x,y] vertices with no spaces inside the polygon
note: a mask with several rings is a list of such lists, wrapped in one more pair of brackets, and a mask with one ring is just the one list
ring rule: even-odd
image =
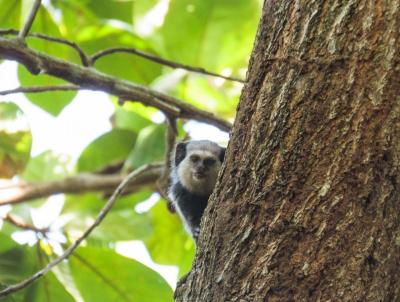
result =
[{"label": "blurred bright green foliage filling the background behind the branches", "polygon": [[[43,1],[32,32],[74,41],[87,54],[110,47],[134,47],[180,63],[245,78],[261,2]],[[0,0],[0,28],[21,28],[32,3]],[[68,46],[35,38],[29,38],[28,45],[80,64],[79,56]],[[96,62],[95,68],[168,93],[231,121],[242,88],[240,83],[173,70],[126,53],[105,56]],[[33,76],[22,66],[18,67],[18,81],[21,86],[63,83],[46,75]],[[56,117],[76,95],[60,91],[25,97]],[[29,116],[12,102],[12,95],[7,100],[0,103],[0,179],[48,182],[77,173],[96,173],[110,166],[128,171],[163,160],[166,128],[154,108],[132,103],[119,106],[110,98],[115,109],[112,129],[88,141],[78,159],[68,160],[50,150],[31,156],[35,137],[29,128]],[[95,114],[93,104],[88,121]],[[179,121],[181,137],[186,135],[183,125]],[[122,197],[68,262],[4,301],[172,301],[173,290],[159,273],[122,256],[116,248],[120,242],[140,240],[155,263],[176,266],[178,277],[190,269],[194,243],[177,215],[168,212],[165,201],[152,190],[143,187]],[[6,213],[15,214],[26,223],[49,230],[44,236],[0,220],[0,288],[30,276],[56,257],[88,227],[106,200],[106,194],[92,192],[0,207],[3,217]]]}]

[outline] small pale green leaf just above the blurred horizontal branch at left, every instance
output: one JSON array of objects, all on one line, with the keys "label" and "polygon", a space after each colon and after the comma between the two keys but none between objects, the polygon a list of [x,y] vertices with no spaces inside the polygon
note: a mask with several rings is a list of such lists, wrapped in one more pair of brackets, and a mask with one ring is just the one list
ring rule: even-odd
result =
[{"label": "small pale green leaf just above the blurred horizontal branch at left", "polygon": [[67,164],[51,151],[45,151],[29,160],[22,178],[28,181],[63,179],[69,175]]}]

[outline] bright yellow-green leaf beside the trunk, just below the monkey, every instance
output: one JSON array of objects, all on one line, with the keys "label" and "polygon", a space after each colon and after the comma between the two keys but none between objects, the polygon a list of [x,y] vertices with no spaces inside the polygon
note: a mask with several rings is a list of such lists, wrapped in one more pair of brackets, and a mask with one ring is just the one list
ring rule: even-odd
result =
[{"label": "bright yellow-green leaf beside the trunk, just below the monkey", "polygon": [[176,265],[179,267],[179,276],[185,275],[192,266],[195,246],[181,220],[177,214],[167,210],[163,200],[151,208],[150,216],[154,231],[144,242],[152,259],[160,264]]}]

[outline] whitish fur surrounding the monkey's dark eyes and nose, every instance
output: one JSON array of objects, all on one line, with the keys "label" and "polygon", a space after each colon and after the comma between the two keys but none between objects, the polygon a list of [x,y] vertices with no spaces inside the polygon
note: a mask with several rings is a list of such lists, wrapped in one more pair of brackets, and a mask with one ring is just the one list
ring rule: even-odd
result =
[{"label": "whitish fur surrounding the monkey's dark eyes and nose", "polygon": [[[195,167],[190,161],[191,155],[197,155],[201,159],[212,157],[216,159],[216,162],[206,172],[206,177],[198,179],[194,177]],[[179,164],[178,177],[182,185],[190,192],[197,193],[200,195],[210,195],[214,189],[215,183],[217,182],[218,172],[221,168],[221,162],[219,158],[210,151],[207,150],[196,150],[189,152],[184,160]]]}]

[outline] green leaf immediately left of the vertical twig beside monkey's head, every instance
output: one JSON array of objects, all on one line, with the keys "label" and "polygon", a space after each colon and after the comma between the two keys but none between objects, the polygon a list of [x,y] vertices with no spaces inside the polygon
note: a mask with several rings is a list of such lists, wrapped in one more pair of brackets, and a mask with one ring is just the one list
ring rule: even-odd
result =
[{"label": "green leaf immediately left of the vertical twig beside monkey's head", "polygon": [[135,147],[125,162],[125,168],[137,168],[144,164],[160,161],[164,155],[165,126],[150,125],[140,131]]}]

